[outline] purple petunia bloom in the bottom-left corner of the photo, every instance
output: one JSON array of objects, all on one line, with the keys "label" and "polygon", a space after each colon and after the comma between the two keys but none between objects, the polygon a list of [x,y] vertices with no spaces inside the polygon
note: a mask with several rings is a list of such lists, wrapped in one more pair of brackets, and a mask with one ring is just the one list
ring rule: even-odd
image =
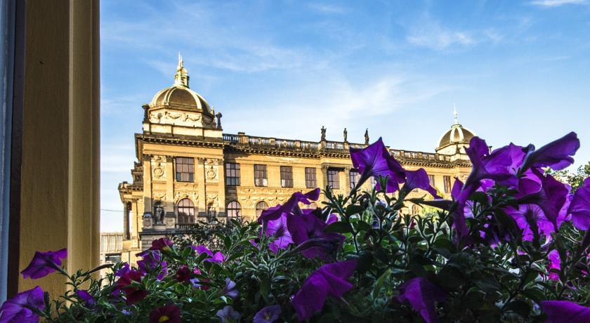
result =
[{"label": "purple petunia bloom in the bottom-left corner of the photo", "polygon": [[32,310],[34,308],[45,308],[43,289],[39,286],[5,301],[0,307],[0,322],[39,322],[39,315]]}]

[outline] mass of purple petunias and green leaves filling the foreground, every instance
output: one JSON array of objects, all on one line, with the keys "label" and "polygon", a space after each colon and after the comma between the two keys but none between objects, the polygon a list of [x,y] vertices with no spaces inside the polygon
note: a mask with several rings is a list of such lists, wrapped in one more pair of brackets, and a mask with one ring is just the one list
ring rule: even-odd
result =
[{"label": "mass of purple petunias and green leaves filling the foreground", "polygon": [[38,252],[22,275],[58,272],[71,288],[53,301],[23,291],[0,322],[590,322],[590,178],[551,176],[578,148],[575,133],[539,149],[473,138],[470,175],[442,199],[379,139],[350,150],[360,180],[349,195],[327,187],[325,206],[307,209],[320,190],[296,192],[211,233],[214,250],[157,239],[104,279],[69,275],[65,250]]}]

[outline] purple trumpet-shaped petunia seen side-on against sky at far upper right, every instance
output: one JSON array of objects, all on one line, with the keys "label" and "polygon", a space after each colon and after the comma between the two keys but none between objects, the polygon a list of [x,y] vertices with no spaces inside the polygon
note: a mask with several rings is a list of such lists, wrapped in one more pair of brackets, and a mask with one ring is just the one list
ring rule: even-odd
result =
[{"label": "purple trumpet-shaped petunia seen side-on against sky at far upper right", "polygon": [[562,138],[540,147],[538,150],[535,150],[533,145],[529,145],[526,149],[527,155],[521,166],[521,173],[527,169],[542,167],[550,167],[559,171],[574,163],[572,156],[579,149],[579,139],[575,132],[570,132]]}]

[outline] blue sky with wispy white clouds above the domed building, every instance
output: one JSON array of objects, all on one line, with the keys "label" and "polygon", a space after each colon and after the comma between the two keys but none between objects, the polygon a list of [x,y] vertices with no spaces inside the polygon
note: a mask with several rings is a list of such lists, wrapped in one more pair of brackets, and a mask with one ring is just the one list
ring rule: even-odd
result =
[{"label": "blue sky with wispy white clouds above the domed building", "polygon": [[576,131],[590,160],[590,0],[101,1],[101,230],[122,230],[141,105],[173,81],[227,133],[433,152],[459,121],[489,145]]}]

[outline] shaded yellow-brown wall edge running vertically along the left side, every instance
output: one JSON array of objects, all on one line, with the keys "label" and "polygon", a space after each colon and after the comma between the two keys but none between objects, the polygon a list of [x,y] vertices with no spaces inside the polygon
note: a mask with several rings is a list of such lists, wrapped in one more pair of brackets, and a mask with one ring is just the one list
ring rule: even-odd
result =
[{"label": "shaded yellow-brown wall edge running vertically along the left side", "polygon": [[[35,251],[62,248],[70,272],[98,265],[98,13],[98,0],[26,4],[20,270]],[[56,296],[64,282],[20,276],[18,289]]]}]

